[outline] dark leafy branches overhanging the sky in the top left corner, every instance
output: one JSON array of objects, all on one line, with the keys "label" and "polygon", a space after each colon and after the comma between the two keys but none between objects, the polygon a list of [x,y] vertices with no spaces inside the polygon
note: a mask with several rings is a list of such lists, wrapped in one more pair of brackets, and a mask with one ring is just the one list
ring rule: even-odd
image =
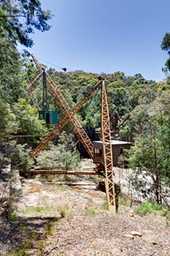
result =
[{"label": "dark leafy branches overhanging the sky in the top left corner", "polygon": [[26,47],[33,46],[30,34],[34,33],[34,29],[42,32],[49,30],[49,18],[50,11],[42,10],[42,4],[38,0],[0,1],[0,33],[3,27],[15,45],[19,42]]}]

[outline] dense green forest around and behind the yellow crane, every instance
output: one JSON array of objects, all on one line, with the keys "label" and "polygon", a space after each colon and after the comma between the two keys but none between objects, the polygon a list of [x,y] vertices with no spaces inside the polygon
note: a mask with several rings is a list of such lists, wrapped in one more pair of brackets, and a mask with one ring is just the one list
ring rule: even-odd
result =
[{"label": "dense green forest around and behind the yellow crane", "polygon": [[[38,70],[26,51],[18,51],[18,43],[33,46],[30,38],[34,30],[49,30],[49,11],[42,10],[39,1],[12,3],[0,1],[0,164],[11,161],[18,166],[51,130],[40,120],[32,98],[27,94],[30,82]],[[165,34],[162,50],[169,50],[169,34]],[[169,54],[169,52],[168,52]],[[163,63],[164,64],[164,63]],[[45,66],[44,66],[45,67]],[[46,67],[45,67],[46,69]],[[112,138],[132,142],[126,158],[136,172],[149,173],[155,184],[156,201],[161,202],[161,185],[170,179],[170,79],[169,58],[165,63],[166,81],[155,82],[142,74],[129,77],[122,71],[113,74],[85,73],[83,70],[65,72],[47,69],[59,86],[70,107],[76,105],[97,85],[98,78],[105,78],[109,101]],[[42,81],[34,90],[40,110],[42,107]],[[63,117],[57,102],[49,96],[51,110]],[[85,130],[100,134],[101,92],[98,90],[77,113]],[[92,137],[93,138],[93,137]],[[61,168],[73,168],[80,155],[75,149],[73,127],[68,124],[61,136],[49,145],[57,146],[58,158],[65,162]],[[56,159],[53,159],[56,160]],[[40,161],[40,160],[39,160]],[[57,162],[57,161],[56,161]]]}]

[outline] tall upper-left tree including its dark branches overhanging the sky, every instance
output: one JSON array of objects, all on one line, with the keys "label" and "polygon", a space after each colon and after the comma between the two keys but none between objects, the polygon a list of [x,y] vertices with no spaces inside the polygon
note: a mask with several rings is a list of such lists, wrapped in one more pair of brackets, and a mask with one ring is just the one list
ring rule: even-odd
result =
[{"label": "tall upper-left tree including its dark branches overhanging the sky", "polygon": [[0,97],[15,102],[26,87],[18,43],[33,46],[34,30],[49,30],[50,11],[40,1],[0,0]]}]

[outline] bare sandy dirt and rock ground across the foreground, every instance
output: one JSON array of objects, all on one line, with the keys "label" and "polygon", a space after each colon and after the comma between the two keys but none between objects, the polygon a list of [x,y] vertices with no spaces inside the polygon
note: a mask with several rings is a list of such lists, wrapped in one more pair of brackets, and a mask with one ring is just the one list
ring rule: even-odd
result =
[{"label": "bare sandy dirt and rock ground across the foreground", "polygon": [[0,255],[170,255],[165,216],[141,216],[129,206],[111,214],[96,181],[81,182],[67,186],[23,178],[10,221],[0,219]]}]

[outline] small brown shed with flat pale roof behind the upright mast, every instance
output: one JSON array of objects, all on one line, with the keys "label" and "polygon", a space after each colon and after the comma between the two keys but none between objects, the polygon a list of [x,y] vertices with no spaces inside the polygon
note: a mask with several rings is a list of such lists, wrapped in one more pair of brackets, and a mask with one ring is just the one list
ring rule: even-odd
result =
[{"label": "small brown shed with flat pale roof behind the upright mast", "polygon": [[[117,141],[112,140],[112,151],[113,151],[113,166],[118,165],[118,158],[124,154],[125,149],[129,149],[132,145],[131,142],[123,142],[123,141]],[[103,142],[101,141],[94,141],[93,142],[93,148],[94,148],[94,163],[104,164],[104,158],[103,158]]]}]

